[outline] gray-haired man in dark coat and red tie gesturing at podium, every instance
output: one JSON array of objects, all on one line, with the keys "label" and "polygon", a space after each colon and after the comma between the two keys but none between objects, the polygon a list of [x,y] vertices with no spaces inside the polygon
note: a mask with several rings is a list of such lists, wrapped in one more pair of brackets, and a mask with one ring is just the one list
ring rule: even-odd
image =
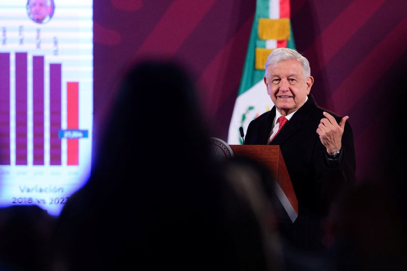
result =
[{"label": "gray-haired man in dark coat and red tie gesturing at podium", "polygon": [[323,219],[340,190],[355,180],[352,129],[348,116],[317,106],[309,94],[309,62],[296,50],[273,50],[265,68],[274,107],[249,124],[245,144],[280,146],[298,199],[298,217],[280,223],[281,235],[298,252],[321,252]]}]

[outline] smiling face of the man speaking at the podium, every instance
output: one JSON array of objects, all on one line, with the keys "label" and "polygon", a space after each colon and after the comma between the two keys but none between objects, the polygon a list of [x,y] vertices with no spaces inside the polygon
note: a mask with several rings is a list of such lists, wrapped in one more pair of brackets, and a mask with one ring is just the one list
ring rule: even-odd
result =
[{"label": "smiling face of the man speaking at the podium", "polygon": [[269,66],[264,82],[277,110],[286,116],[305,103],[314,79],[312,76],[305,77],[301,64],[289,59]]}]

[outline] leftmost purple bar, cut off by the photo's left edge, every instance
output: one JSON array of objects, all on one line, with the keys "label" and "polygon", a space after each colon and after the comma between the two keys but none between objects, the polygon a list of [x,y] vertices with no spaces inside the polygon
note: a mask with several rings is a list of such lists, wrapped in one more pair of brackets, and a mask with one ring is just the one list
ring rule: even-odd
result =
[{"label": "leftmost purple bar, cut off by the photo's left edge", "polygon": [[10,165],[10,53],[0,53],[0,165]]}]

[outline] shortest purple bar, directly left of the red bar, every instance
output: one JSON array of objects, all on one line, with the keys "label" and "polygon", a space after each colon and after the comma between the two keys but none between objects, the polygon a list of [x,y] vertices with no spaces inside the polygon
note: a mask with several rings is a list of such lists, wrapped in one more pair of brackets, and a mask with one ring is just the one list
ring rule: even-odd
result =
[{"label": "shortest purple bar, directly left of the red bar", "polygon": [[61,64],[49,65],[50,165],[61,165]]}]

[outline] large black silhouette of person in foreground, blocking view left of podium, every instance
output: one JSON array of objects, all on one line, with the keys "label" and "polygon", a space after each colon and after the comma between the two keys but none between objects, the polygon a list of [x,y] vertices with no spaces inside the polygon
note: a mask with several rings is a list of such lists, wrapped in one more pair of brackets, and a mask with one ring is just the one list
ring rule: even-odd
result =
[{"label": "large black silhouette of person in foreground, blocking view left of podium", "polygon": [[55,270],[272,269],[264,223],[212,161],[194,95],[172,63],[128,72],[89,182],[58,221]]}]

